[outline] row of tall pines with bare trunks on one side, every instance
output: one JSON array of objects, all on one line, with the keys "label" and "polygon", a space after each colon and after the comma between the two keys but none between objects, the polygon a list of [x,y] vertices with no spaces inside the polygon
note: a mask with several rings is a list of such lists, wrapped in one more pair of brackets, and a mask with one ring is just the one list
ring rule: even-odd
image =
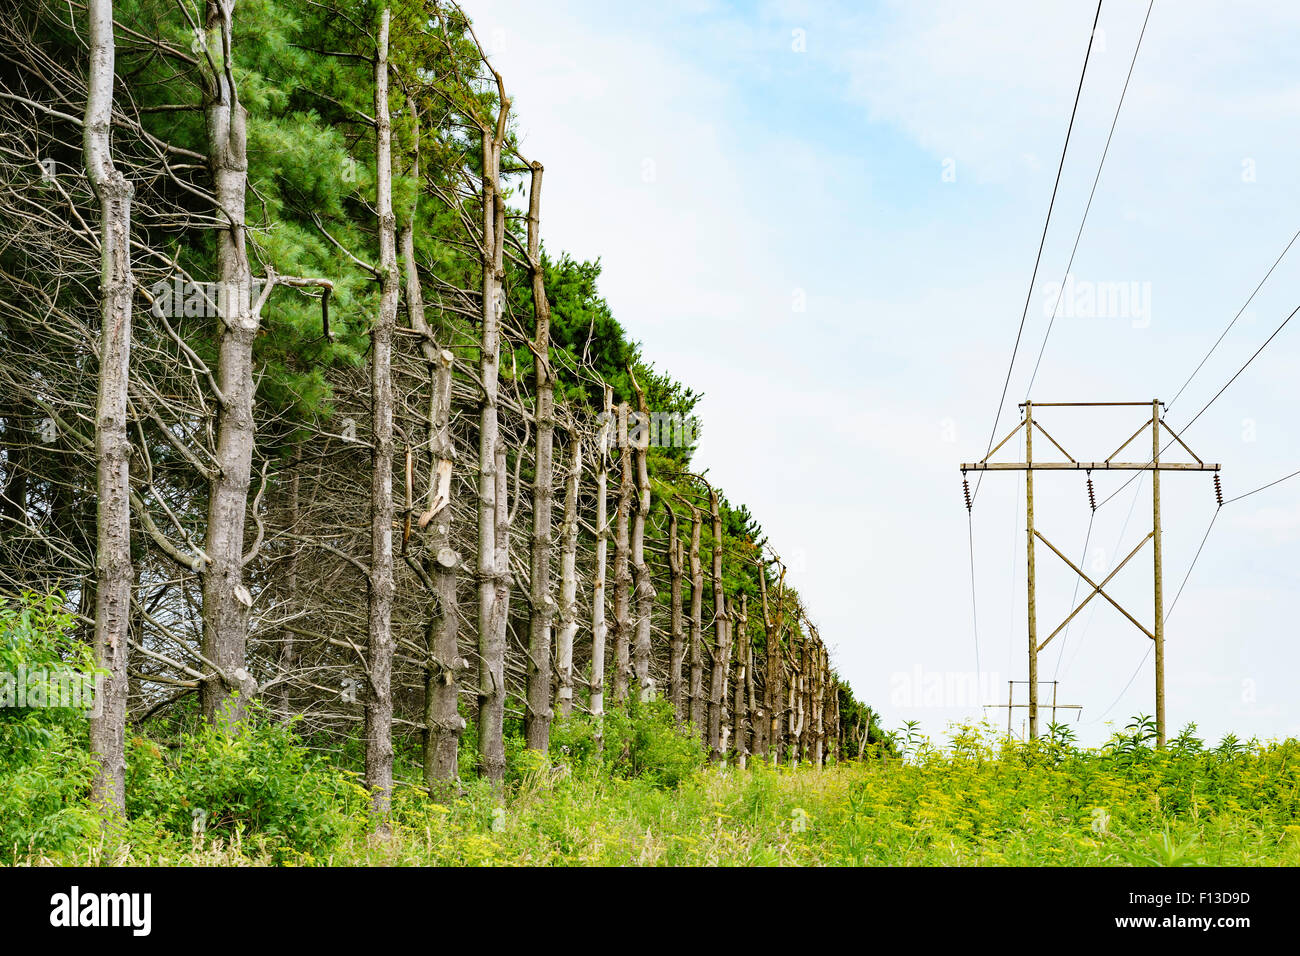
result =
[{"label": "row of tall pines with bare trunks on one side", "polygon": [[0,21],[0,588],[74,607],[117,813],[129,727],[195,696],[360,724],[380,813],[394,741],[430,792],[467,737],[500,782],[510,732],[632,700],[715,761],[867,743],[693,470],[699,395],[542,248],[512,118],[446,0]]}]

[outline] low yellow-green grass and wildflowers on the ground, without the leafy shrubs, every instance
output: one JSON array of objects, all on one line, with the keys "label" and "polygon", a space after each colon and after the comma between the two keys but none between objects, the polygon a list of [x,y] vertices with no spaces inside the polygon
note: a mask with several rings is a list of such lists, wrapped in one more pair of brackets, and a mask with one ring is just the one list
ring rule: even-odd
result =
[{"label": "low yellow-green grass and wildflowers on the ground, without the leafy shrubs", "polygon": [[[1139,726],[1139,724],[1135,724]],[[958,728],[905,758],[812,767],[708,767],[675,787],[541,757],[502,796],[471,783],[446,803],[395,793],[380,838],[350,801],[328,851],[285,856],[235,830],[178,842],[136,827],[30,862],[455,866],[1296,865],[1300,743],[1158,752],[1119,743],[996,740]],[[1199,741],[1197,741],[1199,743]],[[1176,744],[1176,741],[1175,741]],[[192,838],[192,835],[191,835]]]}]

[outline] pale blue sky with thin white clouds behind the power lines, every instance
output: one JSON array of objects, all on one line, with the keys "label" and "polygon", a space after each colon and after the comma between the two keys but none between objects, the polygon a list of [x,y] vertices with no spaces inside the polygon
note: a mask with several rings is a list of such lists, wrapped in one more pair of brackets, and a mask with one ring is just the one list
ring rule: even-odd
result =
[{"label": "pale blue sky with thin white clouds behind the power lines", "polygon": [[[1225,498],[1300,468],[1300,321],[1216,398],[1300,304],[1300,242],[1251,298],[1300,229],[1300,7],[1156,0],[1134,61],[1147,1],[1104,3],[1032,286],[1091,0],[464,7],[546,166],[543,242],[599,258],[646,359],[703,393],[697,466],[887,727],[1005,727],[983,705],[1026,679],[1023,475],[985,475],[968,520],[959,471],[1022,312],[997,438],[1026,398],[1158,398]],[[1035,419],[1101,460],[1149,410]],[[1131,476],[1093,475],[1091,528],[1083,475],[1035,476],[1037,529],[1093,580],[1150,531],[1148,476],[1110,498]],[[1217,511],[1167,472],[1161,498],[1170,734],[1300,735],[1300,477]],[[1091,588],[1036,554],[1041,641]],[[1152,570],[1148,542],[1106,585],[1147,628]],[[1043,650],[1079,740],[1154,713],[1150,646],[1096,597]]]}]

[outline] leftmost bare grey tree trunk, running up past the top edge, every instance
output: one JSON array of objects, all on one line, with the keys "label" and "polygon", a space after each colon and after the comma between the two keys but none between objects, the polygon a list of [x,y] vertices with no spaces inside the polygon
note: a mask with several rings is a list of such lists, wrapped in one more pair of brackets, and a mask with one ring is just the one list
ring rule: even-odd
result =
[{"label": "leftmost bare grey tree trunk, running up past the top edge", "polygon": [[95,464],[99,512],[95,568],[95,663],[107,671],[100,713],[90,721],[96,757],[91,799],[126,818],[126,658],[131,626],[131,502],[126,440],[126,385],[131,363],[131,183],[117,170],[109,146],[113,112],[113,4],[91,0],[87,79],[86,170],[100,209],[99,399]]}]

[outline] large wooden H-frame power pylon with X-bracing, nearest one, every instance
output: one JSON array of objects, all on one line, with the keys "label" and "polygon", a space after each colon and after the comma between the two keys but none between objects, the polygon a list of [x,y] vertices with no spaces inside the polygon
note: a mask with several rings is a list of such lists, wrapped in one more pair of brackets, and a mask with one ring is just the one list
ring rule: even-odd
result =
[{"label": "large wooden H-frame power pylon with X-bracing, nearest one", "polygon": [[[1060,442],[1044,431],[1043,425],[1034,420],[1034,408],[1104,408],[1104,407],[1145,407],[1150,406],[1150,419],[1143,423],[1136,432],[1134,432],[1128,441],[1121,445],[1112,453],[1109,458],[1102,462],[1079,462],[1075,460],[1069,451],[1061,447]],[[1028,551],[1028,613],[1030,613],[1030,736],[1036,737],[1039,735],[1039,652],[1043,650],[1053,637],[1056,637],[1061,631],[1069,624],[1074,617],[1083,610],[1093,597],[1101,594],[1106,598],[1115,609],[1123,614],[1128,620],[1138,627],[1144,635],[1156,643],[1156,735],[1157,745],[1165,745],[1165,592],[1164,580],[1161,576],[1161,535],[1160,535],[1160,473],[1162,471],[1210,471],[1216,472],[1214,490],[1219,494],[1218,486],[1218,464],[1209,464],[1202,462],[1195,451],[1187,447],[1187,444],[1178,436],[1178,433],[1169,427],[1169,424],[1161,418],[1161,407],[1164,402],[1160,399],[1153,399],[1150,402],[1022,402],[1020,408],[1023,408],[1023,418],[1020,423],[1011,429],[1002,441],[1000,441],[992,451],[989,451],[979,462],[963,463],[962,475],[965,476],[967,471],[1023,471],[1024,472],[1024,516],[1026,516],[1026,538],[1027,538],[1027,551]],[[1148,427],[1150,427],[1150,460],[1148,462],[1117,462],[1115,457],[1123,451],[1128,445],[1132,444],[1138,436],[1140,436]],[[1015,433],[1024,429],[1024,460],[1023,462],[991,462],[989,458],[997,454],[998,449],[1006,445]],[[1034,429],[1037,429],[1043,437],[1045,437],[1057,451],[1065,455],[1069,460],[1066,462],[1035,462],[1034,460]],[[1174,441],[1183,446],[1183,449],[1195,458],[1195,463],[1190,462],[1161,462],[1160,460],[1160,433],[1161,428],[1167,431]],[[1034,472],[1036,471],[1083,471],[1088,473],[1088,498],[1092,503],[1093,511],[1096,511],[1096,501],[1092,492],[1092,472],[1096,471],[1149,471],[1150,472],[1150,501],[1152,501],[1152,531],[1147,537],[1138,542],[1128,557],[1119,562],[1114,571],[1112,571],[1106,578],[1097,584],[1088,575],[1086,575],[1072,561],[1070,561],[1061,550],[1043,537],[1041,533],[1034,527]],[[965,477],[963,477],[965,481]],[[971,507],[970,493],[966,496],[966,507]],[[1072,611],[1069,617],[1061,622],[1061,624],[1046,636],[1041,644],[1039,644],[1039,630],[1037,630],[1037,609],[1035,606],[1035,591],[1034,591],[1034,538],[1037,538],[1048,548],[1052,549],[1061,561],[1070,566],[1070,568],[1079,575],[1087,584],[1092,588],[1089,593]],[[1102,588],[1110,583],[1119,571],[1127,564],[1141,546],[1147,541],[1152,541],[1153,555],[1153,571],[1154,571],[1154,632],[1148,631],[1141,623],[1138,622],[1132,614],[1126,611],[1119,606],[1110,594],[1108,594]],[[1008,711],[1010,713],[1010,710]]]}]

